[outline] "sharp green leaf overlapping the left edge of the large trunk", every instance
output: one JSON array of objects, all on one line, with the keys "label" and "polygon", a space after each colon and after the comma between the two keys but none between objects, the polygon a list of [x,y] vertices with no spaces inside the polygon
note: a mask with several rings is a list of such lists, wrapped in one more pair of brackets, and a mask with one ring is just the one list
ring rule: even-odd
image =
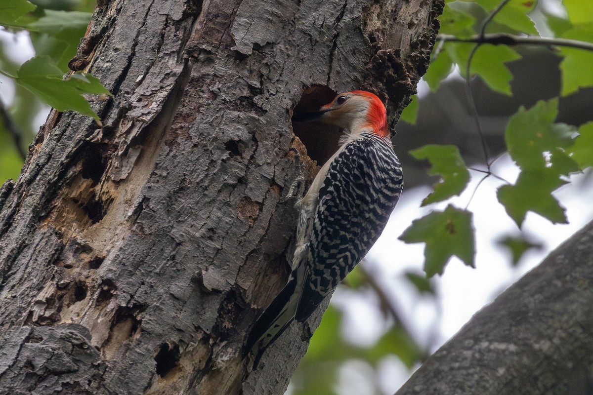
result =
[{"label": "sharp green leaf overlapping the left edge of the large trunk", "polygon": [[16,82],[58,111],[74,110],[99,121],[82,94],[110,95],[110,92],[90,74],[74,74],[69,79],[62,79],[62,76],[62,71],[49,56],[35,56],[18,69]]}]

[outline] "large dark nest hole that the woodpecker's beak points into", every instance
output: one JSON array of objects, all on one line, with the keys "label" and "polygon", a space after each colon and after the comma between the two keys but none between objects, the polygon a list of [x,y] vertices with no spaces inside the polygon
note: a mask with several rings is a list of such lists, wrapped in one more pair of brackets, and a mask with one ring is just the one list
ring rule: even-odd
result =
[{"label": "large dark nest hole that the woodpecker's beak points into", "polygon": [[[313,85],[302,93],[301,100],[292,111],[293,115],[317,111],[337,96],[325,85]],[[307,147],[309,158],[323,165],[327,159],[338,149],[340,129],[318,121],[292,122],[292,130],[301,142]]]}]

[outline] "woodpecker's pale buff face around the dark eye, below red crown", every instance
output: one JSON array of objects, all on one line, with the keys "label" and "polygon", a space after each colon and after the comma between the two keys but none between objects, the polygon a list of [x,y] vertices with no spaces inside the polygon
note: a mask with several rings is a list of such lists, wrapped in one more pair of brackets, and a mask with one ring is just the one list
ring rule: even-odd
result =
[{"label": "woodpecker's pale buff face around the dark eye, below red crown", "polygon": [[347,92],[338,95],[332,102],[321,107],[321,121],[347,131],[359,131],[366,123],[371,102],[368,98]]}]

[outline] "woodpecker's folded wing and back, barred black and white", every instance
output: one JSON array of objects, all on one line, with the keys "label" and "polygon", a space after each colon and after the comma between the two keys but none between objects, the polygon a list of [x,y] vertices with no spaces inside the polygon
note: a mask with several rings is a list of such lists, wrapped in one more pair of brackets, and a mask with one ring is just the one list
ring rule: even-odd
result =
[{"label": "woodpecker's folded wing and back, barred black and white", "polygon": [[403,173],[391,142],[372,133],[347,143],[319,190],[303,254],[304,281],[295,318],[306,320],[381,235],[401,193]]}]

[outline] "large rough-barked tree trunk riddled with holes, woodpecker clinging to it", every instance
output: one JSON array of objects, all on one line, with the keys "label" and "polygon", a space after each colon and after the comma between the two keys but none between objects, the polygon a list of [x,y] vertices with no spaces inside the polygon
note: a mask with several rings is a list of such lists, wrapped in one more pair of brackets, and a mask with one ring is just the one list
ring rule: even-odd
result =
[{"label": "large rough-barked tree trunk riddled with holes, woodpecker clinging to it", "polygon": [[[282,393],[321,311],[257,370],[241,347],[288,275],[291,147],[315,169],[292,110],[367,89],[393,123],[442,7],[98,1],[71,67],[113,93],[104,126],[52,111],[0,190],[0,391]],[[298,133],[313,159],[337,148]]]}]

